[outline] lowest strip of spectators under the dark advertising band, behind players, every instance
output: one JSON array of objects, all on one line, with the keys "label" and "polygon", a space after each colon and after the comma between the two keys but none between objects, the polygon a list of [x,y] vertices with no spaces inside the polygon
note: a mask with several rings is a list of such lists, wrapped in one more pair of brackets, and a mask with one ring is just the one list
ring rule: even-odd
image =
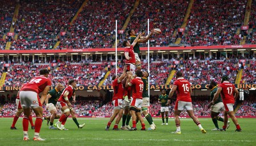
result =
[{"label": "lowest strip of spectators under the dark advertising band, behind players", "polygon": [[[207,108],[209,104],[208,100],[193,100],[193,110],[196,116],[210,116],[211,110]],[[169,106],[170,117],[173,117],[173,108],[175,103],[172,102],[172,105]],[[160,115],[161,104],[156,101],[150,104],[149,111],[153,116]],[[44,107],[45,109],[45,107]],[[113,105],[111,102],[108,102],[104,105],[100,104],[100,101],[77,101],[74,105],[74,109],[78,116],[93,116],[93,117],[104,117],[111,116],[113,113]],[[59,113],[60,110],[58,111]],[[13,116],[16,113],[16,105],[14,102],[6,103],[1,109],[0,116]],[[49,111],[45,110],[44,115],[49,115]],[[223,113],[221,113],[223,115]],[[256,116],[256,104],[254,101],[243,101],[243,105],[237,110],[237,116]],[[187,112],[182,112],[180,117],[188,116]]]}]

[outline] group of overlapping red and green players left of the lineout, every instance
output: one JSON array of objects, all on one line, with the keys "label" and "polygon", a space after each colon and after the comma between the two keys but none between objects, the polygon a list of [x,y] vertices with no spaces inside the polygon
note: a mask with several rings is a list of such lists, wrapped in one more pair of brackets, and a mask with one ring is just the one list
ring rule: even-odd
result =
[{"label": "group of overlapping red and green players left of the lineout", "polygon": [[[65,122],[67,120],[67,117],[72,114],[72,118],[74,122],[77,124],[78,128],[83,128],[84,124],[79,124],[76,119],[76,115],[74,112],[74,109],[72,108],[72,105],[69,100],[72,99],[72,102],[76,102],[76,94],[74,87],[76,87],[76,81],[75,80],[69,80],[68,81],[68,87],[63,89],[63,85],[57,84],[57,87],[55,89],[52,89],[50,91],[51,87],[51,80],[49,80],[47,77],[49,75],[48,69],[41,69],[40,75],[37,77],[32,78],[28,83],[22,85],[20,91],[17,94],[17,114],[13,118],[13,124],[11,129],[15,128],[15,123],[17,122],[17,119],[19,118],[20,113],[24,112],[24,117],[22,120],[22,126],[23,126],[23,140],[27,141],[29,140],[28,136],[28,125],[29,125],[29,117],[31,117],[31,110],[33,110],[36,114],[36,120],[35,120],[35,128],[32,127],[32,129],[35,129],[35,135],[33,140],[34,141],[44,141],[43,138],[40,138],[39,133],[42,126],[43,121],[43,108],[42,105],[47,103],[46,108],[51,112],[51,124],[49,129],[56,129],[52,126],[53,120],[55,118],[60,117],[58,122],[54,124],[58,129],[60,130],[67,130],[64,128]],[[63,89],[63,91],[61,91]],[[50,92],[49,92],[50,91]],[[49,92],[49,94],[48,94]],[[41,94],[41,97],[39,98],[39,94]],[[50,100],[49,100],[50,99]],[[57,115],[56,107],[58,106],[61,111],[63,112],[62,115]],[[32,126],[33,122],[31,123]]]}]

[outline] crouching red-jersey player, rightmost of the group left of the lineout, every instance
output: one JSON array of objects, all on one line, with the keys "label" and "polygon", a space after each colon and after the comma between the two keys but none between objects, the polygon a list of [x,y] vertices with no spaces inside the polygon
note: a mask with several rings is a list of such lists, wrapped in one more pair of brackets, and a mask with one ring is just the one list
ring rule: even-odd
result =
[{"label": "crouching red-jersey player, rightmost of the group left of the lineout", "polygon": [[68,130],[64,127],[65,122],[67,121],[68,116],[70,115],[70,110],[73,110],[72,105],[69,101],[69,99],[74,96],[75,94],[75,88],[76,87],[76,81],[75,80],[68,80],[68,87],[64,89],[64,91],[61,93],[60,98],[58,99],[57,106],[61,109],[63,114],[61,115],[58,122],[54,124],[58,129],[60,130]]}]

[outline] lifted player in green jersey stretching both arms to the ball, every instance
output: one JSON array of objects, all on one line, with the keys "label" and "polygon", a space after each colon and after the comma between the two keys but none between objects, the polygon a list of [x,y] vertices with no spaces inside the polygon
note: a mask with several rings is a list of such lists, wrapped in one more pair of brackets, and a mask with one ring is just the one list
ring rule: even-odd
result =
[{"label": "lifted player in green jersey stretching both arms to the ball", "polygon": [[[130,43],[132,44],[133,41],[136,39],[136,32],[134,31],[134,29],[129,29],[127,32],[130,36]],[[148,34],[147,36],[140,36],[138,42],[133,47],[135,58],[136,58],[136,68],[139,70],[141,70],[141,61],[140,61],[140,57],[139,57],[140,43],[147,43],[147,41],[152,37],[153,34],[154,34],[154,32],[151,31],[150,34]]]}]

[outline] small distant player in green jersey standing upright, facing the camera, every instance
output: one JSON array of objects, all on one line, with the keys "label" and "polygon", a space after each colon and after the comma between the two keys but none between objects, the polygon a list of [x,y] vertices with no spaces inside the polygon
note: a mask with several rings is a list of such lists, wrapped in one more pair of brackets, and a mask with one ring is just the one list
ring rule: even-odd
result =
[{"label": "small distant player in green jersey standing upright, facing the camera", "polygon": [[[161,103],[161,116],[163,123],[161,125],[168,125],[168,95],[166,94],[166,91],[163,89],[162,94],[158,98],[158,102]],[[164,124],[164,113],[165,113],[165,119],[166,124]]]}]

